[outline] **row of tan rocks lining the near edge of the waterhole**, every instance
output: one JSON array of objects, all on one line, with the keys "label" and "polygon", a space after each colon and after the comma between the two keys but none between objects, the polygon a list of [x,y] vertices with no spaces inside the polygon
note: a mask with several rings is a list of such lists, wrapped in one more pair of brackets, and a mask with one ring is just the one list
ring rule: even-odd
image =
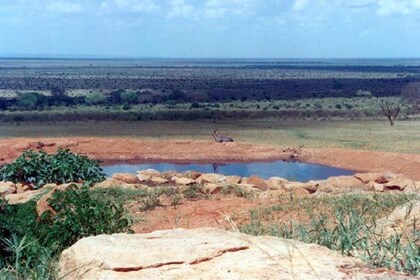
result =
[{"label": "row of tan rocks lining the near edge of the waterhole", "polygon": [[[47,184],[43,188],[32,190],[30,186],[0,182],[0,197],[4,197],[10,204],[25,203],[46,190],[65,189],[64,184]],[[81,185],[82,183],[75,182]],[[185,189],[191,185],[198,186],[203,194],[234,193],[237,196],[252,196],[254,198],[275,198],[284,192],[291,192],[299,196],[317,194],[343,194],[366,192],[404,192],[418,193],[420,181],[413,181],[401,174],[394,173],[357,173],[353,176],[330,177],[326,180],[294,182],[280,177],[264,180],[258,176],[239,177],[224,176],[214,173],[200,173],[195,171],[159,172],[153,169],[141,170],[137,174],[116,173],[111,178],[97,183],[93,188],[124,188],[124,189],[152,189],[155,187],[172,187]]]}]

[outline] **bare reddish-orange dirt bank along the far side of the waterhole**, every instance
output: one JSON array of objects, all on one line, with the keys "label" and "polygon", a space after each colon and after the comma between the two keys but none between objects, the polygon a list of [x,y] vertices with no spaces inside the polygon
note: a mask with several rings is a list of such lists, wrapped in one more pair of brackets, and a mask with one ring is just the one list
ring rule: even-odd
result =
[{"label": "bare reddish-orange dirt bank along the far side of the waterhole", "polygon": [[[42,143],[42,144],[41,144]],[[270,161],[289,159],[286,149],[248,143],[208,141],[150,141],[127,138],[9,138],[0,140],[0,163],[26,149],[58,148],[102,161]],[[420,180],[420,155],[347,149],[302,149],[300,159],[357,171],[395,172]]]}]

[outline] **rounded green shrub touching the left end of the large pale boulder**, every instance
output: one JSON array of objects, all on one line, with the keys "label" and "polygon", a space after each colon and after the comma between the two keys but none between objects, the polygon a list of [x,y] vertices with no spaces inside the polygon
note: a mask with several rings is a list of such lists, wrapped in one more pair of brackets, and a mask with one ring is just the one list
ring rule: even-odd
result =
[{"label": "rounded green shrub touching the left end of the large pale boulder", "polygon": [[43,239],[47,247],[67,248],[83,237],[130,231],[124,208],[95,199],[86,186],[55,192],[48,203],[56,214],[47,211],[41,217],[41,222],[51,226]]}]

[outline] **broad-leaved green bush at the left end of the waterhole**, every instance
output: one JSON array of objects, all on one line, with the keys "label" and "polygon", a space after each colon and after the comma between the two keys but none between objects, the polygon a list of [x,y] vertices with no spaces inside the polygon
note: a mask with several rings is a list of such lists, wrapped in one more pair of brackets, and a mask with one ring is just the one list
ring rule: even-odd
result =
[{"label": "broad-leaved green bush at the left end of the waterhole", "polygon": [[103,181],[105,174],[98,161],[73,154],[69,150],[60,149],[51,155],[44,151],[28,150],[14,162],[0,168],[0,179],[39,188],[47,183],[83,181],[93,184]]}]

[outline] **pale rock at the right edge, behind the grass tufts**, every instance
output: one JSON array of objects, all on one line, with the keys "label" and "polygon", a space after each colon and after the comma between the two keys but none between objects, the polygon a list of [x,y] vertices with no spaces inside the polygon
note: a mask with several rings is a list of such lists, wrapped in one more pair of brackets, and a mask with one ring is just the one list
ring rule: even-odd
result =
[{"label": "pale rock at the right edge, behind the grass tufts", "polygon": [[409,233],[413,225],[419,230],[420,201],[412,201],[394,209],[387,217],[376,221],[375,233],[384,238],[392,235]]}]

